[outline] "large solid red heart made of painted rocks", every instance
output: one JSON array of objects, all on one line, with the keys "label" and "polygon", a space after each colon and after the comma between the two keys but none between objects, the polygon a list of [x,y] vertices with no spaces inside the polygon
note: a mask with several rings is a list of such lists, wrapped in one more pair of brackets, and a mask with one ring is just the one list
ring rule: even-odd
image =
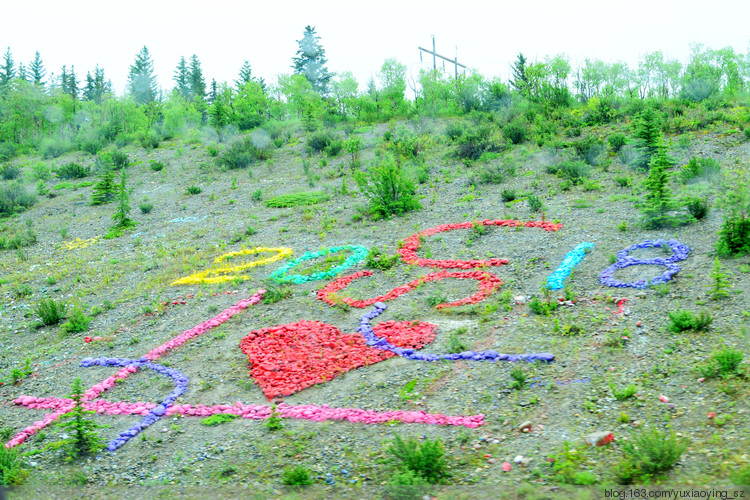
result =
[{"label": "large solid red heart made of painted rocks", "polygon": [[[389,343],[419,349],[435,339],[437,327],[414,321],[385,321],[373,327]],[[288,396],[342,373],[395,356],[370,347],[358,333],[344,334],[320,321],[298,321],[253,330],[240,342],[250,375],[266,397]]]}]

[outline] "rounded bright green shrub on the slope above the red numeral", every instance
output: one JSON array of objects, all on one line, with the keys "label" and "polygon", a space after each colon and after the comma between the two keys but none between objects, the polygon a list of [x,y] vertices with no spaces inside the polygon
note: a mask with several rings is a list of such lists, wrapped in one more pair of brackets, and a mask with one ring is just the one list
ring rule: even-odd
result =
[{"label": "rounded bright green shrub on the slope above the red numeral", "polygon": [[414,184],[390,155],[368,172],[354,172],[354,180],[369,200],[369,212],[375,217],[402,215],[422,208],[415,197]]}]

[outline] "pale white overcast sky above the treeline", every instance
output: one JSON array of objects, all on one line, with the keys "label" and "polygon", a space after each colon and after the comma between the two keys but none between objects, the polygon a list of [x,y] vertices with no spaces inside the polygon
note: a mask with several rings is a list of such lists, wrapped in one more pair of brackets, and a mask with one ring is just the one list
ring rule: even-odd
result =
[{"label": "pale white overcast sky above the treeline", "polygon": [[[386,58],[417,75],[417,46],[431,48],[433,34],[439,54],[452,58],[458,46],[459,62],[503,79],[518,52],[530,61],[565,53],[574,68],[585,58],[632,68],[655,50],[684,63],[696,42],[750,51],[748,0],[0,2],[0,52],[10,47],[16,64],[28,67],[38,50],[48,76],[74,65],[79,81],[99,64],[118,95],[143,45],[167,91],[180,56],[192,54],[207,84],[233,82],[245,59],[254,75],[275,82],[291,73],[308,24],[321,37],[328,69],[351,71],[360,90]],[[425,54],[422,67],[430,59]],[[446,63],[446,70],[453,68]]]}]

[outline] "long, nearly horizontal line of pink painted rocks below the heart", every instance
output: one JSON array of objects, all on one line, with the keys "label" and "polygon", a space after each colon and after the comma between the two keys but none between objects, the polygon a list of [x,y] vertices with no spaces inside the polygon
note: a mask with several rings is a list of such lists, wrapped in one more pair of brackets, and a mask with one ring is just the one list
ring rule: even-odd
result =
[{"label": "long, nearly horizontal line of pink painted rocks below the heart", "polygon": [[[72,408],[73,401],[64,398],[35,398],[21,396],[14,403],[28,408]],[[88,401],[83,407],[89,411],[106,413],[108,415],[148,415],[156,406],[155,403],[128,403],[125,401],[111,402],[104,400]],[[484,415],[447,416],[440,413],[426,413],[424,411],[385,411],[362,410],[359,408],[331,408],[326,405],[287,405],[279,403],[277,412],[283,418],[294,418],[323,422],[325,420],[347,420],[365,424],[382,424],[391,421],[414,424],[456,425],[476,428],[484,424]],[[70,411],[69,409],[67,411]],[[237,415],[242,418],[262,420],[271,415],[271,407],[267,405],[243,404],[240,401],[232,405],[195,406],[184,404],[167,408],[166,415],[182,415],[186,417],[210,417],[219,413]]]}]

